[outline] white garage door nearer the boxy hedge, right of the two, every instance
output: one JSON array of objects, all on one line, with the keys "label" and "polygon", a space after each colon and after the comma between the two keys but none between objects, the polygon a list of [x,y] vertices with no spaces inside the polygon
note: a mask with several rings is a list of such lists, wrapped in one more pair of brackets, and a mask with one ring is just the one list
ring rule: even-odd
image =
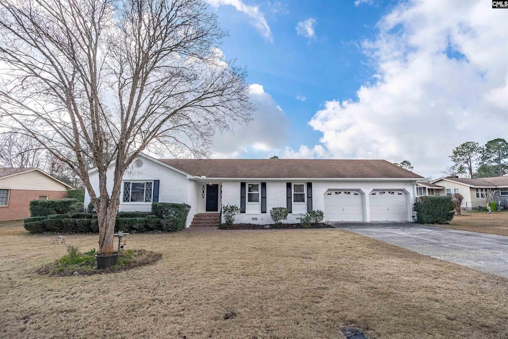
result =
[{"label": "white garage door nearer the boxy hedge, right of the two", "polygon": [[370,221],[407,221],[407,199],[402,190],[376,190],[369,196]]}]

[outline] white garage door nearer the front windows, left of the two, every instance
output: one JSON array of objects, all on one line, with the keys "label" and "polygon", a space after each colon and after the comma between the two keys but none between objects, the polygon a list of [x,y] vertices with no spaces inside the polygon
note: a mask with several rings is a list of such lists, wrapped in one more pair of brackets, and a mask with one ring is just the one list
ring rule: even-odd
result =
[{"label": "white garage door nearer the front windows, left of the two", "polygon": [[325,220],[363,221],[363,199],[360,192],[328,190],[325,193]]}]

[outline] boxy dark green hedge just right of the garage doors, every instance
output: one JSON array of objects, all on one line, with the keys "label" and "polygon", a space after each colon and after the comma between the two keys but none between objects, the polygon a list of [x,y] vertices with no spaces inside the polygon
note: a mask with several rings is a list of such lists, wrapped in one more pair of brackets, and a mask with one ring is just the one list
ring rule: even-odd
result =
[{"label": "boxy dark green hedge just right of the garage doors", "polygon": [[449,224],[455,213],[452,197],[423,196],[413,206],[419,224]]}]

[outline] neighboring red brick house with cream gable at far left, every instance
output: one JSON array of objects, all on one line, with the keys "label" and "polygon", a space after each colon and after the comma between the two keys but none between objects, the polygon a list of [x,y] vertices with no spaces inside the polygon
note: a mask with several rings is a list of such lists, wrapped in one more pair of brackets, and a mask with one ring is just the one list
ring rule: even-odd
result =
[{"label": "neighboring red brick house with cream gable at far left", "polygon": [[30,216],[31,200],[61,199],[72,189],[38,168],[0,168],[0,221]]}]

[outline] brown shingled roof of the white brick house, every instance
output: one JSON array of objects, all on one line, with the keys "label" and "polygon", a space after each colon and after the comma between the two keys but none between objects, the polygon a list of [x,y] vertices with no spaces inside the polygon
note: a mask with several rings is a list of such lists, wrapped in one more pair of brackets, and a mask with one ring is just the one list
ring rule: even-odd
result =
[{"label": "brown shingled roof of the white brick house", "polygon": [[210,178],[422,178],[386,160],[159,159]]}]

